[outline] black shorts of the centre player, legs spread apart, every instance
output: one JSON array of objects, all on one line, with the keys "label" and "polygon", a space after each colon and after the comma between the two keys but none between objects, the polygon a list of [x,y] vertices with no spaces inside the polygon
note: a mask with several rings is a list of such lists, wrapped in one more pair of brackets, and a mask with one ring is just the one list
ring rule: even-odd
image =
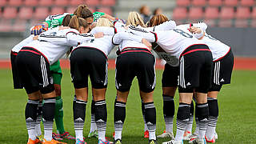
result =
[{"label": "black shorts of the centre player, legs spread apart", "polygon": [[[141,50],[141,52],[136,52]],[[145,93],[150,93],[155,87],[155,58],[150,51],[143,49],[126,50],[116,60],[116,88],[126,92],[130,90],[135,76],[138,78],[138,86]]]}]

